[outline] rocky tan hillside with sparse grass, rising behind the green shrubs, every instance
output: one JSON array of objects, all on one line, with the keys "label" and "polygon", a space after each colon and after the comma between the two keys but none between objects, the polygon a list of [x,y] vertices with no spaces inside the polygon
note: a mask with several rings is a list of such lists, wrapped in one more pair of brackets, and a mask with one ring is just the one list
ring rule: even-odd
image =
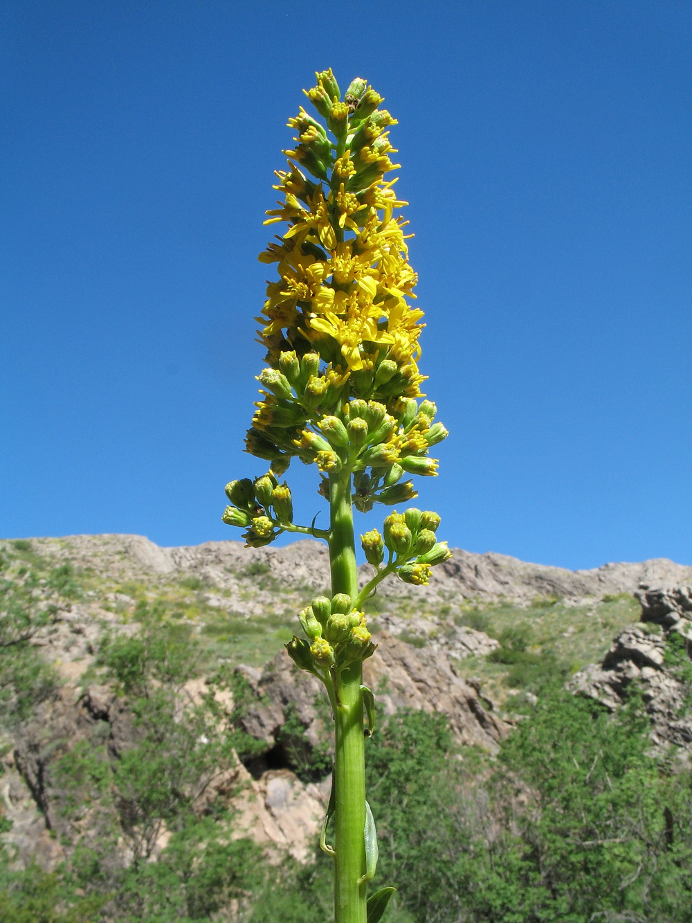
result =
[{"label": "rocky tan hillside with sparse grass, rising behind the green shrubs", "polygon": [[[19,609],[29,614],[26,634],[6,635],[2,644],[9,652],[23,638],[53,677],[28,712],[10,696],[2,716],[0,821],[19,863],[37,858],[54,868],[75,844],[89,841],[102,817],[120,810],[101,796],[89,809],[75,809],[66,767],[77,765],[74,754],[105,747],[108,759],[122,760],[139,745],[126,688],[113,681],[102,652],[104,639],[135,639],[144,624],[173,625],[195,641],[197,673],[174,693],[180,708],[211,696],[220,720],[254,741],[242,761],[210,773],[201,789],[185,782],[194,809],[203,814],[214,799],[225,799],[235,809],[233,835],[251,833],[260,844],[307,856],[328,797],[328,717],[316,680],[292,667],[281,644],[295,630],[298,609],[327,587],[322,545],[161,548],[137,535],[78,535],[6,542],[0,552],[9,601],[0,625]],[[366,682],[377,690],[381,717],[401,708],[444,713],[459,744],[492,753],[514,721],[510,662],[512,669],[537,667],[549,648],[555,662],[583,669],[603,657],[614,630],[637,622],[635,593],[653,611],[658,597],[651,588],[692,583],[692,568],[658,559],[573,572],[456,550],[435,577],[426,588],[390,579],[371,600],[379,646],[365,664]],[[615,701],[633,669],[624,664],[636,664],[642,677],[647,665],[661,673],[659,642],[643,629],[627,630],[618,641],[626,653],[611,652],[602,666],[578,674],[577,688]],[[507,651],[514,655],[507,659]],[[209,685],[220,666],[233,672],[231,691]],[[651,693],[656,701],[670,692],[659,685]],[[670,733],[661,734],[684,743],[688,729],[670,730],[674,701],[666,702],[661,721]],[[167,836],[161,823],[147,855],[155,857]],[[118,840],[113,861],[129,861],[132,848]]]}]

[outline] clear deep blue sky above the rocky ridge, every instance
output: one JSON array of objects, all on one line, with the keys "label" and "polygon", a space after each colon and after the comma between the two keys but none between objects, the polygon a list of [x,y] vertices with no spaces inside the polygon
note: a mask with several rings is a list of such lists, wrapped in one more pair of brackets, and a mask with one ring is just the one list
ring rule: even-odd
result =
[{"label": "clear deep blue sky above the rocky ridge", "polygon": [[[691,24],[675,0],[5,0],[0,534],[239,537],[263,212],[332,66],[400,120],[451,431],[416,502],[472,551],[692,563]],[[310,519],[315,475],[288,475]]]}]

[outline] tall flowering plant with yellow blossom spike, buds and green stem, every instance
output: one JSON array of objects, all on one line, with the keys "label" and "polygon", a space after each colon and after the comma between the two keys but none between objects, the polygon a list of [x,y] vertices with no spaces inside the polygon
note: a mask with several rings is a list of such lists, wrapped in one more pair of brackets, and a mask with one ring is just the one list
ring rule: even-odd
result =
[{"label": "tall flowering plant with yellow blossom spike, buds and green stem", "polygon": [[[251,547],[280,533],[324,539],[331,598],[319,596],[299,615],[304,637],[287,645],[293,661],[327,689],[336,749],[332,796],[321,837],[334,857],[337,923],[376,923],[393,888],[366,896],[375,874],[375,822],[365,800],[364,739],[375,728],[375,704],[363,685],[363,661],[375,650],[364,610],[389,574],[417,585],[450,556],[438,542],[440,517],[393,511],[382,533],[361,535],[372,578],[358,586],[353,512],[375,503],[396,506],[416,497],[405,474],[435,475],[429,450],[447,437],[435,404],[421,400],[418,369],[423,311],[413,307],[416,275],[408,261],[408,222],[395,217],[399,164],[389,141],[396,120],[362,78],[341,95],[331,70],[305,90],[326,126],[303,108],[289,126],[296,145],[277,173],[282,200],[267,224],[288,230],[259,259],[276,263],[268,282],[259,338],[267,367],[258,376],[261,400],[247,451],[269,462],[254,481],[232,481],[223,521],[245,528]],[[280,483],[294,456],[316,463],[319,492],[330,506],[327,530],[293,522],[289,486]],[[328,844],[333,820],[333,845]]]}]

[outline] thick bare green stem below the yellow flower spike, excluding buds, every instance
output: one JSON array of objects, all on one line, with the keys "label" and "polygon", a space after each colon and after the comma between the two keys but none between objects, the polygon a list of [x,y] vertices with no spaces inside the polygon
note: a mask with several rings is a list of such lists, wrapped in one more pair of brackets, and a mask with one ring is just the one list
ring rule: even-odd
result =
[{"label": "thick bare green stem below the yellow flower spike, excluding buds", "polygon": [[[331,537],[329,559],[332,593],[358,593],[355,564],[351,473],[329,478]],[[363,734],[363,665],[342,670],[340,706],[336,709],[334,756],[334,914],[336,923],[365,923],[365,758]]]}]

